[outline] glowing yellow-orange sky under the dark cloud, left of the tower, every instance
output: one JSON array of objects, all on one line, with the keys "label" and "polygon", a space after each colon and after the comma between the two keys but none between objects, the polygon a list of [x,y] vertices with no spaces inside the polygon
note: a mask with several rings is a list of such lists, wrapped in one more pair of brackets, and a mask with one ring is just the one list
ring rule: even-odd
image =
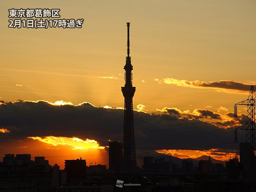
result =
[{"label": "glowing yellow-orange sky under the dark cloud, left of the tower", "polygon": [[31,160],[34,160],[35,156],[45,156],[50,165],[57,163],[60,165],[60,169],[64,169],[64,160],[79,159],[80,157],[86,159],[87,166],[90,165],[90,160],[94,165],[96,161],[96,164],[108,166],[108,151],[103,146],[88,145],[81,141],[72,140],[72,138],[63,137],[50,136],[47,138],[48,141],[42,141],[41,138],[35,139],[13,140],[8,146],[1,148],[1,155],[9,153],[31,154]]}]

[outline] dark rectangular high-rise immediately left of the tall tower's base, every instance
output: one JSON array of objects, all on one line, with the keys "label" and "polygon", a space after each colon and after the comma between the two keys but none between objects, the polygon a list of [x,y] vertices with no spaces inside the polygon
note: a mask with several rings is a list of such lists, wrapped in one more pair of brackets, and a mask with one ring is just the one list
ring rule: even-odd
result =
[{"label": "dark rectangular high-rise immediately left of the tall tower's base", "polygon": [[109,143],[109,169],[121,171],[123,166],[123,143]]}]

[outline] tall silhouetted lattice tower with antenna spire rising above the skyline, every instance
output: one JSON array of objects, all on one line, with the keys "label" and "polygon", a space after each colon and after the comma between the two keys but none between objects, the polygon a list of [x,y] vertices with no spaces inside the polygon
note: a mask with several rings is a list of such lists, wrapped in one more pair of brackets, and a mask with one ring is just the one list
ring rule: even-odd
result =
[{"label": "tall silhouetted lattice tower with antenna spire rising above the skyline", "polygon": [[127,23],[127,57],[126,65],[124,66],[125,85],[122,87],[124,96],[124,134],[123,134],[123,168],[124,171],[133,172],[137,167],[136,150],[134,141],[134,125],[133,125],[133,96],[135,87],[132,85],[133,66],[130,57],[130,39],[129,31],[130,23]]}]

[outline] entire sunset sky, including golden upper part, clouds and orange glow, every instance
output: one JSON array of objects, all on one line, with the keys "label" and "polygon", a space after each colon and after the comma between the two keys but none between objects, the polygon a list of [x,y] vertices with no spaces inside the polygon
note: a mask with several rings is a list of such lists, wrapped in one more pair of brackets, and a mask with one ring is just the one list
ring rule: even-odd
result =
[{"label": "entire sunset sky, including golden upper part, clouds and orange glow", "polygon": [[[8,28],[12,8],[60,9],[61,19],[84,23]],[[108,140],[123,137],[126,22],[137,155],[227,160],[239,149],[233,132],[246,108],[232,113],[256,84],[255,1],[4,0],[0,9],[1,158],[108,164]]]}]

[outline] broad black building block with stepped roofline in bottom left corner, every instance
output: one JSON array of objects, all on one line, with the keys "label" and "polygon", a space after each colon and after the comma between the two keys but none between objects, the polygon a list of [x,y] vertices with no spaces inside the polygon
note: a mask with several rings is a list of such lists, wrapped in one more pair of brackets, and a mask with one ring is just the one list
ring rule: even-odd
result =
[{"label": "broad black building block with stepped roofline in bottom left corner", "polygon": [[[44,159],[44,157],[41,157]],[[6,154],[0,166],[0,191],[54,191],[52,166],[35,165],[31,154]],[[14,164],[10,165],[10,162]],[[45,161],[46,162],[46,161]]]}]

